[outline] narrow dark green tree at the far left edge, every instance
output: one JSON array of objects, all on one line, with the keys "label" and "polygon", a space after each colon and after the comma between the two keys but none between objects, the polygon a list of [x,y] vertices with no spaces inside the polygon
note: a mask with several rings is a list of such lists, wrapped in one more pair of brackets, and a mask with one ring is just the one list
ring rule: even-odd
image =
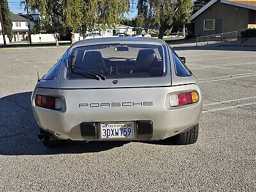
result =
[{"label": "narrow dark green tree at the far left edge", "polygon": [[12,42],[12,13],[10,12],[8,1],[0,0],[0,8],[2,11],[2,18],[4,24],[4,34],[8,36],[10,42]]}]

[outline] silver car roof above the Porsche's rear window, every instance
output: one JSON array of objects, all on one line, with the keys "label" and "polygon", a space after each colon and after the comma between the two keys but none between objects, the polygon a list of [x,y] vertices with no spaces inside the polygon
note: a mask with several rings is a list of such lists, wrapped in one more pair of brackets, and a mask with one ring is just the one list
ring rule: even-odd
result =
[{"label": "silver car roof above the Porsche's rear window", "polygon": [[72,48],[83,47],[86,45],[100,45],[100,44],[149,44],[149,45],[166,45],[166,42],[158,38],[148,37],[110,37],[110,38],[93,38],[90,40],[81,40],[72,45]]}]

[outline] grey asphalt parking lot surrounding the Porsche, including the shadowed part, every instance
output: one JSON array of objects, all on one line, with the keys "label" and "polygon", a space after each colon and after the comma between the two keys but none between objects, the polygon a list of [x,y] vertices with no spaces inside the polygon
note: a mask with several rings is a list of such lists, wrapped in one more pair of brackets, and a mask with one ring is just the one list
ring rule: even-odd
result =
[{"label": "grey asphalt parking lot surrounding the Porsche, including the shadowed part", "polygon": [[30,97],[67,47],[0,49],[0,191],[256,191],[256,47],[175,44],[198,78],[194,145],[36,140]]}]

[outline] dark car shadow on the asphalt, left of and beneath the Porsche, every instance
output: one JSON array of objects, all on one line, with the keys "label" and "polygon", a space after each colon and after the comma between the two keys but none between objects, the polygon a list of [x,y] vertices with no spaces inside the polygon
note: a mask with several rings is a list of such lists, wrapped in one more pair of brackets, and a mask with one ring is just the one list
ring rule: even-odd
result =
[{"label": "dark car shadow on the asphalt, left of and beneath the Porsche", "polygon": [[31,93],[24,92],[0,98],[0,155],[81,154],[122,147],[129,142],[65,142],[57,148],[46,148],[36,139],[38,125],[31,109]]}]

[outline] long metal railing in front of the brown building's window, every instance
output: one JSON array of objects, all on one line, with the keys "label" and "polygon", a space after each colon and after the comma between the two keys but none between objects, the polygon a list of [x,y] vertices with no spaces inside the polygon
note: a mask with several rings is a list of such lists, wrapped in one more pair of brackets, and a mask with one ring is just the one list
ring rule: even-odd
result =
[{"label": "long metal railing in front of the brown building's window", "polygon": [[198,36],[196,37],[196,46],[200,43],[214,44],[223,41],[237,40],[237,31],[218,33],[214,35]]}]

